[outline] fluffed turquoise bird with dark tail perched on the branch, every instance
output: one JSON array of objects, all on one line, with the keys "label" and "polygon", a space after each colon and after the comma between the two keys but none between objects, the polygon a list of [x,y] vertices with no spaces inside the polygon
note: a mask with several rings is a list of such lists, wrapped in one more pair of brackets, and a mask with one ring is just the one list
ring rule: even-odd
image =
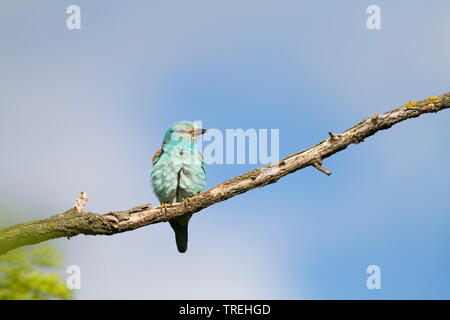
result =
[{"label": "fluffed turquoise bird with dark tail perched on the branch", "polygon": [[[170,203],[188,201],[205,190],[205,164],[197,149],[197,140],[205,132],[190,121],[176,122],[166,131],[161,149],[153,156],[150,174],[161,208]],[[191,216],[184,214],[169,220],[180,253],[187,250]]]}]

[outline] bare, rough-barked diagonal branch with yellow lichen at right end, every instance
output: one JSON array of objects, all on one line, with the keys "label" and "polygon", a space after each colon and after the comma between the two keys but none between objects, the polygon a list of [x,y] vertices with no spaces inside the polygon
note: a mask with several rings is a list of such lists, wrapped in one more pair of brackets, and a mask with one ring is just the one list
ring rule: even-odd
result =
[{"label": "bare, rough-barked diagonal branch with yellow lichen at right end", "polygon": [[401,121],[448,108],[450,108],[450,92],[419,102],[408,102],[400,108],[381,115],[374,114],[343,133],[329,132],[329,138],[311,148],[291,154],[267,166],[253,169],[204,191],[187,202],[174,203],[167,208],[151,207],[150,204],[147,204],[126,211],[113,211],[106,214],[83,213],[82,210],[87,201],[87,195],[83,193],[76,202],[76,208],[47,219],[0,229],[0,254],[23,245],[60,237],[70,238],[79,234],[113,235],[165,222],[186,213],[198,212],[257,187],[275,183],[285,175],[308,166],[314,166],[321,172],[330,175],[331,172],[322,167],[323,159],[344,150],[350,144],[364,141],[380,130],[389,129]]}]

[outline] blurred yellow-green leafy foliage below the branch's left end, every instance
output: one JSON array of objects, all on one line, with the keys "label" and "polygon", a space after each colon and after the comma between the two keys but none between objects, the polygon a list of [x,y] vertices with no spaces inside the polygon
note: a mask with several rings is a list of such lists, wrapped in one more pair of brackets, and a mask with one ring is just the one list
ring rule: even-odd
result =
[{"label": "blurred yellow-green leafy foliage below the branch's left end", "polygon": [[19,248],[0,256],[0,300],[71,299],[61,276],[62,255],[49,245]]}]

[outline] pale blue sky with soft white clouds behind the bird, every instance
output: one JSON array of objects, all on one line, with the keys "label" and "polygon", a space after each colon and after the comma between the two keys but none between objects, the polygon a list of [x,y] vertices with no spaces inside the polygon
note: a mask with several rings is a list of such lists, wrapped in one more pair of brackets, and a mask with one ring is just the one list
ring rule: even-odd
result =
[{"label": "pale blue sky with soft white clouds behind the bird", "polygon": [[[285,157],[448,92],[449,15],[445,0],[0,0],[1,214],[45,218],[80,191],[93,212],[158,204],[151,159],[176,121],[278,129]],[[50,243],[80,267],[78,299],[449,299],[449,122],[402,122],[326,159],[329,177],[204,209],[186,254],[166,223]],[[206,187],[260,165],[207,165]]]}]

